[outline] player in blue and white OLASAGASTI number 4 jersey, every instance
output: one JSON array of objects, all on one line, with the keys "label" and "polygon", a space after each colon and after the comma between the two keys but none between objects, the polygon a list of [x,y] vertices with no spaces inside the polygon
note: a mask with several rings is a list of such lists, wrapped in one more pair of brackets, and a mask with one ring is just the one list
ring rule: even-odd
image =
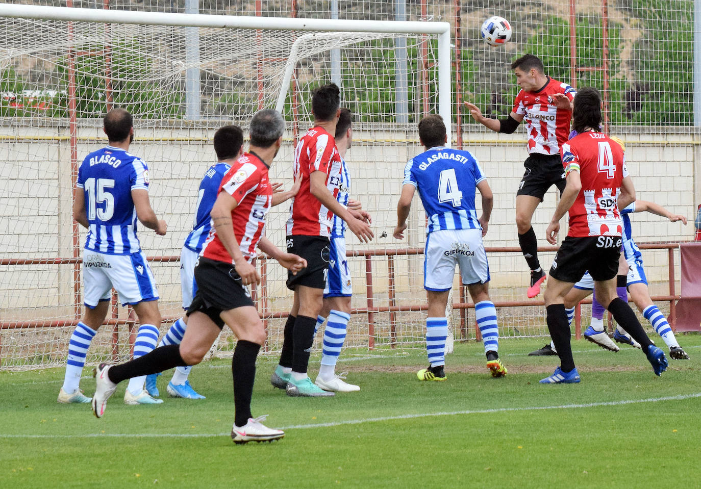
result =
[{"label": "player in blue and white OLASAGASTI number 4 jersey", "polygon": [[[475,303],[477,326],[484,339],[486,366],[494,377],[507,373],[498,355],[496,308],[489,298],[489,264],[482,237],[486,235],[494,197],[482,168],[470,151],[450,149],[443,119],[431,115],[418,123],[418,137],[426,151],[409,160],[397,205],[394,237],[401,240],[414,191],[426,209],[426,249],[423,257],[423,287],[428,298],[426,350],[428,369],[419,380],[446,380],[444,372],[448,319],[445,310],[453,287],[456,264],[462,283]],[[475,190],[482,195],[482,216],[475,209]]]}]

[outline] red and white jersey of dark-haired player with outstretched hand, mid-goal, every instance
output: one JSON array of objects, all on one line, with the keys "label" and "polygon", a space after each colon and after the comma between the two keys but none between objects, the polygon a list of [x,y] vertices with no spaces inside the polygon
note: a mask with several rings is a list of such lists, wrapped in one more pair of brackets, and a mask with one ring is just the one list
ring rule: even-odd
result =
[{"label": "red and white jersey of dark-haired player with outstretched hand, mid-goal", "polygon": [[308,130],[294,149],[294,179],[301,174],[302,181],[290,204],[288,236],[330,234],[333,213],[311,193],[309,175],[316,171],[325,172],[326,187],[336,198],[341,185],[341,155],[334,137],[318,126]]}]

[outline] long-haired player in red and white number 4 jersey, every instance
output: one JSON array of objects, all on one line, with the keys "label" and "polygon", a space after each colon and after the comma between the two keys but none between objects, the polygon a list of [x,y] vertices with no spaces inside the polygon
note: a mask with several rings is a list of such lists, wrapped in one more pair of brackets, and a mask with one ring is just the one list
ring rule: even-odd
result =
[{"label": "long-haired player in red and white number 4 jersey", "polygon": [[623,163],[623,149],[601,132],[598,90],[580,90],[574,98],[573,115],[578,135],[562,144],[566,186],[546,230],[547,241],[557,244],[559,221],[569,211],[569,232],[557,250],[545,289],[547,329],[562,364],[540,383],[580,381],[572,358],[564,298],[587,270],[601,304],[640,343],[659,376],[667,369],[665,353],[653,345],[633,310],[616,293],[623,228],[618,209],[635,201],[633,181]]}]

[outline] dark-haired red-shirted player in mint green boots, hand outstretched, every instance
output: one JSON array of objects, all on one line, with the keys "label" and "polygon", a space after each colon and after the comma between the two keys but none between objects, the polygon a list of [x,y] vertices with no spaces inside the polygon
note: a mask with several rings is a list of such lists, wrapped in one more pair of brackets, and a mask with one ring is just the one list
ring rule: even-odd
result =
[{"label": "dark-haired red-shirted player in mint green boots, hand outstretched", "polygon": [[368,242],[373,234],[367,212],[346,209],[336,200],[341,156],[333,135],[341,115],[341,90],[335,83],[322,85],[313,91],[311,105],[314,127],[294,150],[294,180],[301,178],[301,186],[287,220],[287,251],[306,259],[307,266],[297,275],[287,274],[287,288],[294,290],[294,303],[271,384],[290,396],[321,397],[334,392],[315,385],[307,376],[307,366],[329,271],[332,214],[346,221],[361,241]]}]

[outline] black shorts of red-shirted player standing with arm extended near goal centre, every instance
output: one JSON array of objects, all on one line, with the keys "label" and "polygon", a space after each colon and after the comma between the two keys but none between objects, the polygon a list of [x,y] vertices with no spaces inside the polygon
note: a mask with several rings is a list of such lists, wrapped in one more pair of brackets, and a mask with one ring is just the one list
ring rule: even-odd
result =
[{"label": "black shorts of red-shirted player standing with arm extended near goal centre", "polygon": [[287,272],[287,289],[305,285],[312,289],[325,289],[329,273],[329,238],[323,236],[287,236],[287,253],[294,253],[307,261],[297,275]]}]

